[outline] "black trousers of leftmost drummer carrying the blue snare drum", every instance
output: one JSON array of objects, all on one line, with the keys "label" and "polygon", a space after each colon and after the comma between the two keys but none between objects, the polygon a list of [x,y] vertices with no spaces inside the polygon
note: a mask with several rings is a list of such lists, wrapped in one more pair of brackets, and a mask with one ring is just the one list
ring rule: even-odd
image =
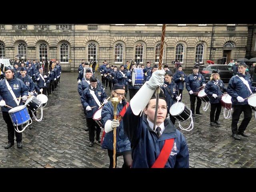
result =
[{"label": "black trousers of leftmost drummer carrying the blue snare drum", "polygon": [[[4,121],[7,124],[7,130],[8,130],[8,143],[14,143],[14,132],[16,136],[16,141],[21,142],[22,141],[22,133],[18,133],[14,130],[14,126],[12,124],[12,120],[10,118],[10,115],[8,112],[2,111]],[[22,130],[21,126],[18,126],[18,130]]]}]

